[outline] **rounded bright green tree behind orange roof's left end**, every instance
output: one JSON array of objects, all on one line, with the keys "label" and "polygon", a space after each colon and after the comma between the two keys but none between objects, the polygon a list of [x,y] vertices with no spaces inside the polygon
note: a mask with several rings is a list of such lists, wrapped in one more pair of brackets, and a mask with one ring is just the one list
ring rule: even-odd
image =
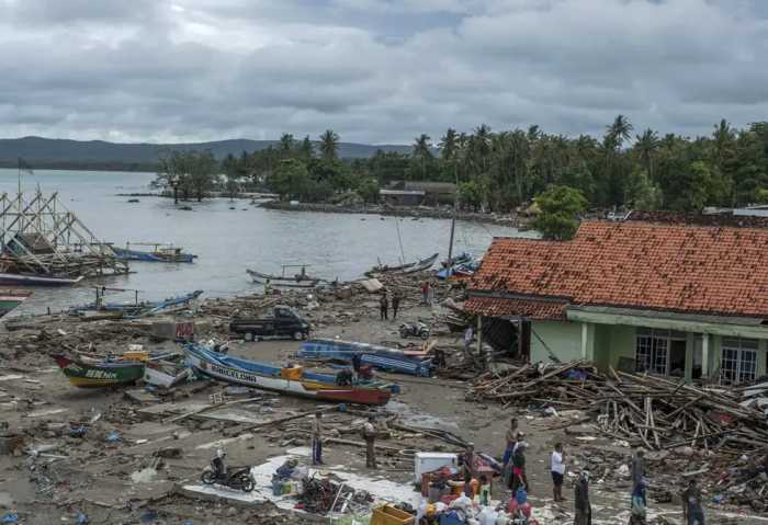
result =
[{"label": "rounded bright green tree behind orange roof's left end", "polygon": [[578,190],[551,185],[535,196],[539,215],[533,227],[547,240],[567,240],[578,228],[578,215],[586,209],[587,199]]}]

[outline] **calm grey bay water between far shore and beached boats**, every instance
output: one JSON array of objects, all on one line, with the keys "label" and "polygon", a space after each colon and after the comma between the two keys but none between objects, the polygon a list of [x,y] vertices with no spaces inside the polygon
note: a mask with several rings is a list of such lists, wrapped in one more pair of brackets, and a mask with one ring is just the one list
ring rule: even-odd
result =
[{"label": "calm grey bay water between far shore and beached boats", "polygon": [[[309,264],[312,274],[352,279],[381,258],[400,259],[398,227],[406,260],[448,253],[450,220],[380,217],[376,215],[279,212],[256,207],[246,199],[190,203],[194,210],[176,209],[173,202],[139,197],[131,204],[117,193],[148,191],[154,173],[39,170],[23,178],[24,192],[37,184],[44,193],[59,192],[61,203],[104,241],[172,242],[195,253],[194,264],[132,263],[129,275],[103,282],[106,286],[142,290],[140,298],[161,299],[193,289],[206,297],[227,297],[258,289],[247,267],[281,273],[282,264]],[[0,169],[0,191],[15,194],[16,170]],[[230,207],[235,209],[229,209]],[[512,228],[459,222],[454,252],[482,254],[494,236],[527,236]],[[92,300],[93,282],[71,288],[34,288],[34,296],[13,313],[54,310]],[[131,300],[121,294],[111,300]]]}]

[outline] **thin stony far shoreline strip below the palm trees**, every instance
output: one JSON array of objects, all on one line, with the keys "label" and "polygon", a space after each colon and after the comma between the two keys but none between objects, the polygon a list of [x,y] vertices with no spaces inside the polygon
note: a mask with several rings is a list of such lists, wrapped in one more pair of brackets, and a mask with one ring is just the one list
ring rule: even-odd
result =
[{"label": "thin stony far shoreline strip below the palm trees", "polygon": [[[389,217],[414,217],[429,219],[451,219],[453,210],[450,208],[431,208],[422,206],[341,206],[336,204],[319,204],[319,203],[298,203],[291,204],[285,202],[270,201],[259,205],[267,209],[279,209],[283,212],[316,212],[325,214],[363,214],[363,215],[382,215]],[[528,221],[517,215],[493,215],[481,214],[473,212],[460,212],[456,214],[458,220],[466,220],[472,222],[484,222],[498,226],[508,226],[518,228],[521,231],[531,229],[528,227]]]}]

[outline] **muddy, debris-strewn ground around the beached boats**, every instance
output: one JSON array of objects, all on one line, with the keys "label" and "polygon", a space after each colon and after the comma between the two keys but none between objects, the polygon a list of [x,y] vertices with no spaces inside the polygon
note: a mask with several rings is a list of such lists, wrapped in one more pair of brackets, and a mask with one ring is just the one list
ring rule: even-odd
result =
[{"label": "muddy, debris-strewn ground around the beached boats", "polygon": [[[181,315],[199,322],[200,339],[228,338],[226,331],[227,308],[235,306],[214,301],[215,308],[204,308],[196,315]],[[312,305],[312,301],[309,301]],[[240,308],[242,304],[238,304]],[[213,312],[213,313],[212,313]],[[380,321],[374,296],[359,295],[338,301],[313,305],[305,310],[319,328],[316,335],[339,336],[364,342],[403,342],[397,334],[397,321]],[[417,306],[417,297],[410,297],[400,313],[403,320],[425,319],[434,321],[442,313],[440,307]],[[169,422],[178,414],[210,402],[210,396],[222,392],[225,385],[211,381],[189,383],[168,395],[147,392],[140,386],[128,389],[86,390],[69,385],[56,368],[48,353],[76,345],[84,349],[91,340],[91,351],[122,352],[127,345],[174,349],[172,342],[157,342],[142,330],[122,321],[93,323],[72,321],[48,324],[41,329],[27,329],[0,334],[0,420],[8,423],[1,433],[21,433],[25,436],[24,452],[0,456],[0,514],[13,510],[20,523],[50,524],[78,523],[78,514],[88,515],[88,523],[133,524],[219,524],[219,523],[306,523],[279,511],[270,504],[256,507],[242,506],[233,501],[208,501],[190,498],[180,487],[196,482],[215,449],[225,446],[230,465],[258,465],[268,458],[282,455],[286,449],[308,445],[309,419],[285,423],[281,427],[266,426],[249,430],[257,423],[316,409],[313,401],[281,397],[269,392],[235,392],[228,400],[241,402],[227,407],[225,420],[190,416]],[[434,326],[439,344],[458,346],[456,335]],[[58,330],[63,330],[59,332]],[[262,341],[230,344],[230,353],[248,358],[285,363],[300,346],[295,341]],[[549,454],[555,442],[565,443],[572,453],[571,467],[580,455],[598,459],[611,453],[612,459],[605,471],[613,471],[622,463],[629,463],[631,450],[612,443],[591,427],[568,427],[568,421],[578,413],[546,416],[541,410],[526,410],[500,404],[482,404],[465,399],[466,384],[453,379],[415,378],[382,374],[383,379],[397,383],[402,392],[379,409],[399,415],[399,420],[415,425],[431,425],[449,430],[466,441],[475,443],[478,450],[500,457],[504,452],[504,433],[509,418],[518,415],[521,430],[530,445],[528,454],[530,501],[542,524],[573,522],[572,478],[566,481],[564,504],[555,505],[551,495]],[[146,398],[145,401],[129,399]],[[244,401],[245,400],[245,401]],[[148,413],[158,406],[172,403],[173,412]],[[196,403],[196,404],[194,404]],[[213,413],[213,412],[212,412]],[[216,411],[216,413],[219,413]],[[233,422],[240,418],[244,422]],[[325,416],[327,435],[360,441],[360,414],[332,412]],[[83,436],[70,436],[72,422],[88,423]],[[557,427],[556,430],[551,430]],[[222,440],[225,440],[222,444]],[[395,449],[455,450],[455,446],[425,437],[418,433],[393,431],[388,440],[379,443]],[[327,443],[326,464],[364,475],[409,483],[413,479],[413,461],[407,453],[393,452],[380,455],[377,472],[366,471],[362,448]],[[622,458],[617,460],[615,458]],[[620,524],[629,520],[629,481],[615,481],[614,477],[597,472],[591,489],[596,524]],[[605,479],[605,481],[602,481]],[[669,487],[669,476],[655,476],[651,480],[656,489],[676,490]],[[659,481],[664,479],[664,481]],[[673,477],[674,479],[674,477]],[[658,484],[662,484],[659,487]],[[496,499],[507,498],[498,482],[494,489]],[[681,523],[679,504],[675,501],[657,504],[652,501],[651,515],[666,523]],[[766,518],[748,515],[738,509],[724,509],[710,504],[710,523],[763,523]],[[665,523],[665,522],[660,522]]]}]

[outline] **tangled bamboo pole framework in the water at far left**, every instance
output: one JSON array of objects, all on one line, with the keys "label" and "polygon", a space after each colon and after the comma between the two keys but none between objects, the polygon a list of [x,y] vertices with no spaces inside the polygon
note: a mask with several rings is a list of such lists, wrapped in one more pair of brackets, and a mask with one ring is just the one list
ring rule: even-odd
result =
[{"label": "tangled bamboo pole framework in the water at far left", "polygon": [[106,244],[58,198],[39,189],[0,195],[0,272],[55,277],[128,273]]}]

